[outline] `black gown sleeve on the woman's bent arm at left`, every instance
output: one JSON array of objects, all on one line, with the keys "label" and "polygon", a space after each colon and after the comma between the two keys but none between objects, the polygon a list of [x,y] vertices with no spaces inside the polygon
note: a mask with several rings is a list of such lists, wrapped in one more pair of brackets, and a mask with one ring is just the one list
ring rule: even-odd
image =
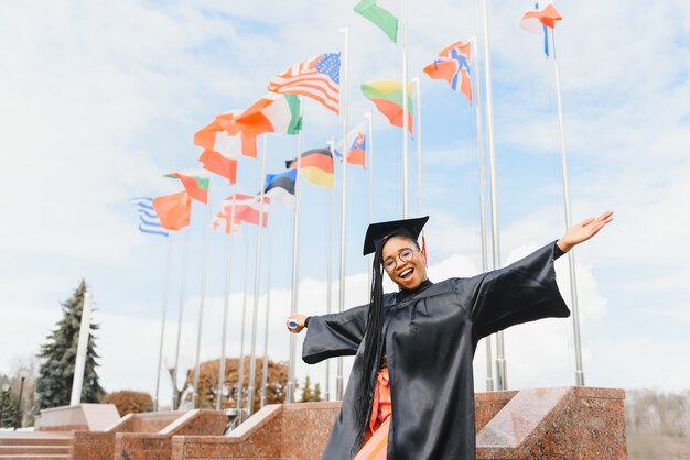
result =
[{"label": "black gown sleeve on the woman's bent arm at left", "polygon": [[343,313],[311,316],[302,346],[302,360],[315,364],[327,358],[357,353],[366,329],[369,306]]}]

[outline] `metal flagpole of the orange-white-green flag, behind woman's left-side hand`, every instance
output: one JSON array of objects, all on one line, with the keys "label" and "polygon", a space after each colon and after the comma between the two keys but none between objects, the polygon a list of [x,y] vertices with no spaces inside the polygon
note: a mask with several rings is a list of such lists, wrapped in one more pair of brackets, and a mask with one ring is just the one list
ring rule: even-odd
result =
[{"label": "metal flagpole of the orange-white-green flag, behind woman's left-side hand", "polygon": [[[300,102],[302,97],[300,97]],[[304,120],[302,114],[304,113],[303,105],[300,103],[300,120],[302,121],[302,129],[298,133],[298,173],[294,178],[294,226],[292,229],[292,298],[290,302],[290,315],[298,313],[298,289],[299,289],[299,256],[300,256],[300,195],[302,190],[302,179],[300,178],[300,167],[302,166],[302,130],[304,129]],[[297,365],[297,337],[294,333],[290,333],[290,361],[288,368],[288,394],[285,395],[285,403],[294,403],[294,366]]]}]

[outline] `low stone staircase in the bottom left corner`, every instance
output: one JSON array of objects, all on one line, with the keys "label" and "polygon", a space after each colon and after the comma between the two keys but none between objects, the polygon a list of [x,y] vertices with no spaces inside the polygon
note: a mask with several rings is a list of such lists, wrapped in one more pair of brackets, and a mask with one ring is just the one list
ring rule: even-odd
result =
[{"label": "low stone staircase in the bottom left corner", "polygon": [[0,432],[0,460],[69,459],[72,434]]}]

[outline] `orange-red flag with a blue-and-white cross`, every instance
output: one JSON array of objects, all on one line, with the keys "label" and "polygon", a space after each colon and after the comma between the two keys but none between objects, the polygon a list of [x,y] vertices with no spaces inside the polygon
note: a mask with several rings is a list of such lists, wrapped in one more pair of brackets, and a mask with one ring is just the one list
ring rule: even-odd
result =
[{"label": "orange-red flag with a blue-and-white cross", "polygon": [[443,48],[433,63],[424,67],[427,75],[433,79],[448,81],[451,89],[465,95],[470,103],[472,103],[471,53],[471,43],[455,42]]}]

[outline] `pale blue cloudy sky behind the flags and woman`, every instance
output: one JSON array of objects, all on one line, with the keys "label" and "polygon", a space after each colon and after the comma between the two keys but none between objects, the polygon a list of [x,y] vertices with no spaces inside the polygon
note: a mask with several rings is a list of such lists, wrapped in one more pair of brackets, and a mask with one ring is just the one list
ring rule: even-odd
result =
[{"label": "pale blue cloudy sky behind the flags and woman", "polygon": [[[400,218],[402,135],[358,88],[400,79],[402,48],[352,11],[354,3],[0,3],[0,193],[6,197],[0,207],[0,373],[14,374],[34,360],[62,316],[61,303],[80,280],[95,299],[98,373],[108,392],[153,394],[163,304],[164,366],[175,362],[179,325],[180,368],[194,366],[202,293],[200,359],[219,357],[228,238],[206,231],[206,209],[195,202],[185,252],[186,231],[170,240],[140,233],[128,200],[181,190],[162,175],[200,173],[194,133],[214,116],[251,105],[288,66],[343,51],[338,29],[344,25],[349,39],[343,88],[347,122],[357,124],[367,111],[374,121],[374,166],[351,166],[347,173],[344,307],[367,302],[360,248],[369,220],[368,173],[373,220]],[[400,15],[396,1],[379,3]],[[565,230],[554,64],[545,59],[541,39],[519,29],[519,18],[530,8],[531,1],[488,1],[502,265]],[[688,390],[690,4],[581,0],[557,8],[564,18],[556,41],[572,219],[615,211],[614,222],[575,251],[585,382]],[[452,42],[476,36],[482,47],[478,12],[475,1],[408,1],[410,77]],[[478,67],[484,63],[479,56]],[[483,78],[483,70],[474,69]],[[481,86],[484,98],[483,79]],[[422,133],[409,146],[410,215],[420,213],[419,139],[421,213],[431,216],[430,277],[470,276],[483,270],[477,149],[485,151],[486,141],[477,138],[476,107],[462,95],[423,74],[420,94]],[[281,171],[299,150],[337,141],[342,129],[341,118],[305,100],[301,139],[270,134],[259,142],[266,172]],[[238,167],[237,191],[257,193],[261,163],[240,158]],[[341,165],[336,169],[333,208],[328,190],[311,184],[302,189],[297,308],[308,315],[327,310],[328,236],[331,308],[339,307]],[[227,182],[212,178],[212,212],[231,190]],[[260,326],[256,335],[247,327],[245,353],[252,348],[263,353],[270,292],[268,354],[288,359],[283,321],[291,306],[292,216],[272,206],[270,230],[261,232],[258,272],[256,228],[244,228],[235,238],[226,355],[240,352],[242,305],[247,322],[256,311]],[[570,303],[564,258],[557,271]],[[506,357],[511,388],[574,384],[572,320],[508,330]],[[345,362],[347,368],[351,361]],[[324,364],[297,365],[300,381],[310,375],[322,388],[325,372]],[[484,390],[485,375],[481,344],[477,391]],[[170,394],[171,382],[162,374],[160,399],[169,401]]]}]

